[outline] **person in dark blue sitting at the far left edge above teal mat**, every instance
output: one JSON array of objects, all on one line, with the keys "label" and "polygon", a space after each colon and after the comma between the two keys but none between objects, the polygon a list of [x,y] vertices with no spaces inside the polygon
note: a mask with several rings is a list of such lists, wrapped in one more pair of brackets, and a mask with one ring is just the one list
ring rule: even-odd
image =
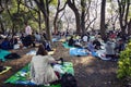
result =
[{"label": "person in dark blue sitting at the far left edge above teal mat", "polygon": [[10,50],[12,47],[10,47],[10,40],[9,38],[4,38],[3,41],[0,44],[0,48],[3,50]]}]

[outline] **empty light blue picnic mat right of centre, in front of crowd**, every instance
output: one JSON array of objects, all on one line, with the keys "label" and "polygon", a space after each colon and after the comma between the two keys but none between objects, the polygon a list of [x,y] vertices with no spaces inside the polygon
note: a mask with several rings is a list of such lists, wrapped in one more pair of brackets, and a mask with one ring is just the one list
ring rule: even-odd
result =
[{"label": "empty light blue picnic mat right of centre, in front of crowd", "polygon": [[82,48],[70,48],[70,55],[88,55],[88,52]]}]

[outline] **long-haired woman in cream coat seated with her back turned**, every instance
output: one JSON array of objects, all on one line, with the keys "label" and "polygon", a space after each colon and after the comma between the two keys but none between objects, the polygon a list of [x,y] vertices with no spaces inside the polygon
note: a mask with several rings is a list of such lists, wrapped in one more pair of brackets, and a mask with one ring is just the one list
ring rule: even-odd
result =
[{"label": "long-haired woman in cream coat seated with her back turned", "polygon": [[49,85],[58,80],[51,63],[58,63],[51,55],[48,55],[45,47],[39,45],[36,55],[31,61],[31,78],[36,85]]}]

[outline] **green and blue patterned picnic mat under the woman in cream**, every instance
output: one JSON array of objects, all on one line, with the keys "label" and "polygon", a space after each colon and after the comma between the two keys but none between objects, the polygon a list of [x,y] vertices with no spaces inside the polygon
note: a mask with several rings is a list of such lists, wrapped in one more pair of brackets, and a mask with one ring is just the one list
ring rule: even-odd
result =
[{"label": "green and blue patterned picnic mat under the woman in cream", "polygon": [[[21,85],[35,85],[34,83],[31,83],[27,78],[29,77],[29,64],[27,64],[25,67],[23,67],[21,71],[19,71],[16,74],[11,76],[9,79],[7,79],[4,83],[9,84],[21,84]],[[74,75],[73,64],[71,62],[63,62],[63,65],[61,67],[67,73],[71,73]],[[60,84],[58,85],[51,85],[49,87],[61,87]]]}]

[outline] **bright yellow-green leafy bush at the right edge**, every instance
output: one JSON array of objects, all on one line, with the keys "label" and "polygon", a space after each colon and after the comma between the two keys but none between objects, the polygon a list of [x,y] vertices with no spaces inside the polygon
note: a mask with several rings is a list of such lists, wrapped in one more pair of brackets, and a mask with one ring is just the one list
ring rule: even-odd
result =
[{"label": "bright yellow-green leafy bush at the right edge", "polygon": [[131,78],[131,42],[129,42],[126,50],[120,53],[118,67],[118,78]]}]

